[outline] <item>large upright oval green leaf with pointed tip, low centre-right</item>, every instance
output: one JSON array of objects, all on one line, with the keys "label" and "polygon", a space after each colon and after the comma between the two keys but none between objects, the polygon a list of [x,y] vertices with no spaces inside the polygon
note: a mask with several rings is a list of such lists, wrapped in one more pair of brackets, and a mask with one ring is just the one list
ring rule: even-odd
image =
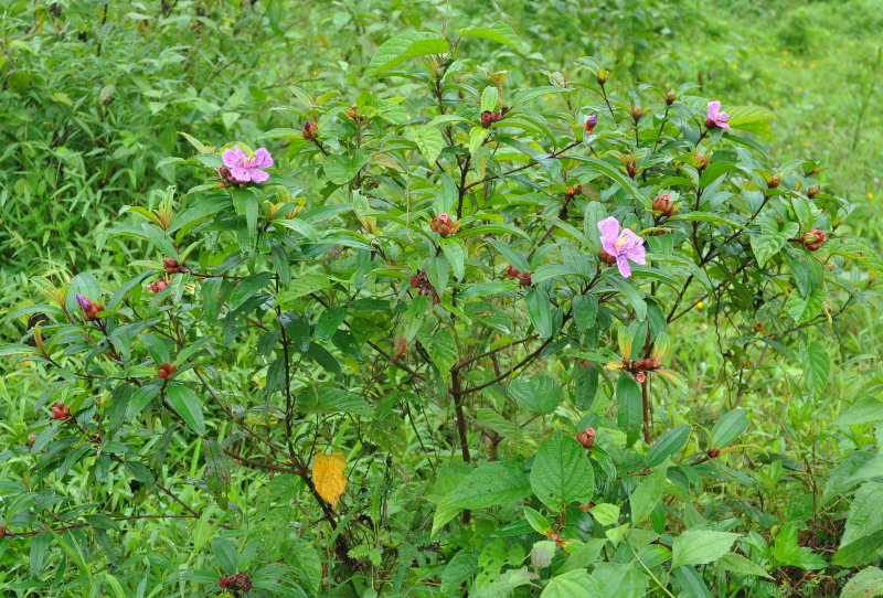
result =
[{"label": "large upright oval green leaf with pointed tip, low centre-right", "polygon": [[563,433],[543,442],[533,458],[531,488],[556,512],[567,504],[588,502],[595,491],[595,470],[583,446]]}]

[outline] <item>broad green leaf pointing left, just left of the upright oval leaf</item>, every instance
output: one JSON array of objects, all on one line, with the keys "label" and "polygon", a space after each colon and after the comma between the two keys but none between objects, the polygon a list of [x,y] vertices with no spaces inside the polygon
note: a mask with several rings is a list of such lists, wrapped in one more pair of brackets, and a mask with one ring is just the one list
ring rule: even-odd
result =
[{"label": "broad green leaf pointing left, just left of the upright oval leaf", "polygon": [[519,461],[482,463],[462,480],[447,503],[459,509],[487,509],[530,495],[531,485]]}]

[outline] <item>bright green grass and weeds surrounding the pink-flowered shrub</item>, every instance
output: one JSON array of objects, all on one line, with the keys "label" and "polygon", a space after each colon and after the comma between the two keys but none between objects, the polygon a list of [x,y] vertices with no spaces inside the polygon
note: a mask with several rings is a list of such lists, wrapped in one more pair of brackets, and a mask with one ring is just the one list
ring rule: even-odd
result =
[{"label": "bright green grass and weeds surrounding the pink-flowered shrub", "polygon": [[[308,98],[322,105],[349,105],[362,92],[385,92],[390,83],[368,76],[365,65],[380,44],[406,29],[451,33],[491,22],[511,24],[524,49],[479,40],[470,44],[467,57],[475,71],[508,72],[506,86],[513,90],[583,81],[576,61],[592,57],[610,71],[611,89],[623,98],[635,96],[635,82],[663,89],[693,83],[698,95],[725,105],[765,107],[775,116],[768,141],[770,161],[819,160],[826,190],[851,202],[844,231],[879,246],[883,116],[876,108],[883,94],[879,82],[883,13],[875,0],[586,4],[520,0],[6,3],[0,8],[0,276],[6,291],[2,305],[11,317],[4,341],[26,339],[30,314],[22,309],[44,302],[41,280],[63,286],[79,273],[91,273],[116,287],[134,275],[132,267],[143,267],[143,261],[138,263],[146,259],[147,244],[118,234],[120,225],[141,222],[125,206],[153,210],[172,193],[171,185],[187,190],[205,180],[191,165],[170,161],[160,165],[168,157],[194,153],[179,131],[212,149],[231,140],[255,142],[267,131],[299,130],[309,115]],[[425,95],[423,89],[418,81],[397,79],[394,86],[397,96],[412,99]],[[274,156],[291,160],[305,147],[285,136],[264,138],[263,143]],[[855,455],[875,455],[879,444],[874,424],[883,418],[877,323],[883,306],[869,292],[836,323],[815,330],[831,341],[831,375],[811,394],[802,386],[799,356],[775,343],[746,341],[736,334],[737,323],[719,320],[702,307],[679,320],[677,333],[670,331],[671,360],[689,387],[678,401],[663,403],[659,431],[683,424],[710,428],[738,397],[751,421],[738,442],[751,448],[728,457],[726,467],[751,481],[703,487],[701,494],[684,501],[681,516],[690,526],[735,522],[726,530],[749,534],[756,549],[744,552],[769,577],[737,572],[748,576],[743,578],[719,569],[705,575],[701,589],[675,580],[671,590],[651,585],[647,591],[658,596],[670,591],[839,595],[859,569],[833,565],[831,557],[847,515],[855,509],[855,484],[874,480],[879,472],[873,467],[859,472],[858,464],[874,466],[875,461]],[[787,359],[773,360],[772,353]],[[66,466],[64,474],[32,469],[26,439],[44,429],[47,404],[54,401],[50,397],[57,391],[47,386],[44,370],[2,359],[0,513],[9,516],[0,516],[1,525],[19,531],[15,516],[22,489],[39,490],[40,508],[28,506],[31,511],[51,510],[56,499],[50,496],[66,496],[58,502],[65,521],[92,513],[92,487],[99,482],[109,484],[103,490],[114,500],[125,496],[135,510],[160,500],[140,488],[146,482],[138,476],[96,480],[92,466],[75,462]],[[752,373],[734,380],[734,359],[747,360]],[[231,361],[235,369],[245,363],[245,355]],[[251,380],[254,386],[247,387],[251,372],[244,365],[240,374],[245,392],[264,384]],[[444,417],[440,412],[430,415]],[[352,433],[336,429],[334,434]],[[408,441],[412,448],[418,446],[416,438]],[[168,451],[175,456],[172,462],[181,471],[162,476],[190,479],[192,483],[181,484],[177,495],[208,513],[200,485],[205,445],[185,434],[175,434],[169,442]],[[375,473],[369,468],[364,476],[368,471]],[[407,471],[384,471],[381,477],[390,487],[404,487]],[[260,525],[274,528],[273,517],[283,522],[301,516],[285,506],[292,500],[288,476],[262,474],[256,484],[246,483],[246,478],[234,474],[230,489],[230,500],[244,520],[257,517]],[[385,492],[387,488],[366,484],[362,490]],[[426,493],[429,487],[414,491]],[[33,499],[29,494],[28,500]],[[273,510],[276,514],[264,519]],[[96,516],[85,520],[88,534],[0,540],[0,589],[17,596],[215,595],[221,590],[215,580],[223,574],[248,570],[265,583],[264,589],[253,591],[265,595],[297,595],[295,586],[317,595],[372,596],[374,591],[385,596],[393,595],[393,587],[402,595],[417,588],[444,595],[438,584],[423,581],[438,578],[449,565],[456,554],[449,546],[471,544],[483,555],[481,566],[488,570],[498,564],[502,567],[511,556],[496,554],[502,543],[480,544],[481,530],[476,532],[475,525],[490,525],[490,520],[474,523],[468,537],[464,531],[462,537],[451,538],[458,532],[449,531],[442,540],[430,538],[428,528],[421,530],[426,537],[419,537],[424,544],[413,558],[408,555],[414,567],[407,575],[405,567],[381,560],[380,553],[372,552],[376,546],[366,546],[351,557],[374,567],[357,583],[337,586],[330,581],[336,555],[302,541],[300,530],[280,541],[285,556],[268,556],[259,535],[224,532],[209,515],[137,521],[125,527]],[[873,516],[870,521],[869,526],[875,525]],[[881,527],[883,522],[874,532]],[[395,551],[403,540],[417,545],[413,538],[387,538],[384,548],[389,551],[381,552],[401,557]],[[879,548],[868,545],[864,549],[873,560]],[[449,575],[456,577],[456,572]],[[272,583],[277,577],[285,578],[279,587]],[[462,595],[456,592],[458,587],[459,583],[454,585],[453,595]]]}]

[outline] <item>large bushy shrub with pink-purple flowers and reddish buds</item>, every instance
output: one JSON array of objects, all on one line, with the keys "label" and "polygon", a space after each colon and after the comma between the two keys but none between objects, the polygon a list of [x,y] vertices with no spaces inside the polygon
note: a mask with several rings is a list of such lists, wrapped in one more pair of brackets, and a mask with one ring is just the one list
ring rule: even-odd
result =
[{"label": "large bushy shrub with pink-purple flowers and reddish buds", "polygon": [[[189,137],[163,163],[204,182],[110,232],[143,252],[132,277],[46,284],[13,313],[49,319],[3,350],[47,391],[4,541],[79,554],[87,531],[113,549],[130,522],[192,520],[217,570],[170,572],[190,596],[706,596],[722,576],[776,596],[772,574],[829,566],[798,545],[812,513],[770,547],[694,501],[757,483],[744,348],[823,391],[817,327],[880,270],[847,202],[817,163],[770,163],[765,110],[586,58],[510,88],[476,40],[521,46],[500,24],[404,32],[373,90],[298,95],[302,127],[253,140],[270,150]],[[700,307],[731,324],[732,385],[682,423]],[[53,487],[74,468],[88,496]],[[880,531],[847,525],[832,564],[864,564]]]}]

